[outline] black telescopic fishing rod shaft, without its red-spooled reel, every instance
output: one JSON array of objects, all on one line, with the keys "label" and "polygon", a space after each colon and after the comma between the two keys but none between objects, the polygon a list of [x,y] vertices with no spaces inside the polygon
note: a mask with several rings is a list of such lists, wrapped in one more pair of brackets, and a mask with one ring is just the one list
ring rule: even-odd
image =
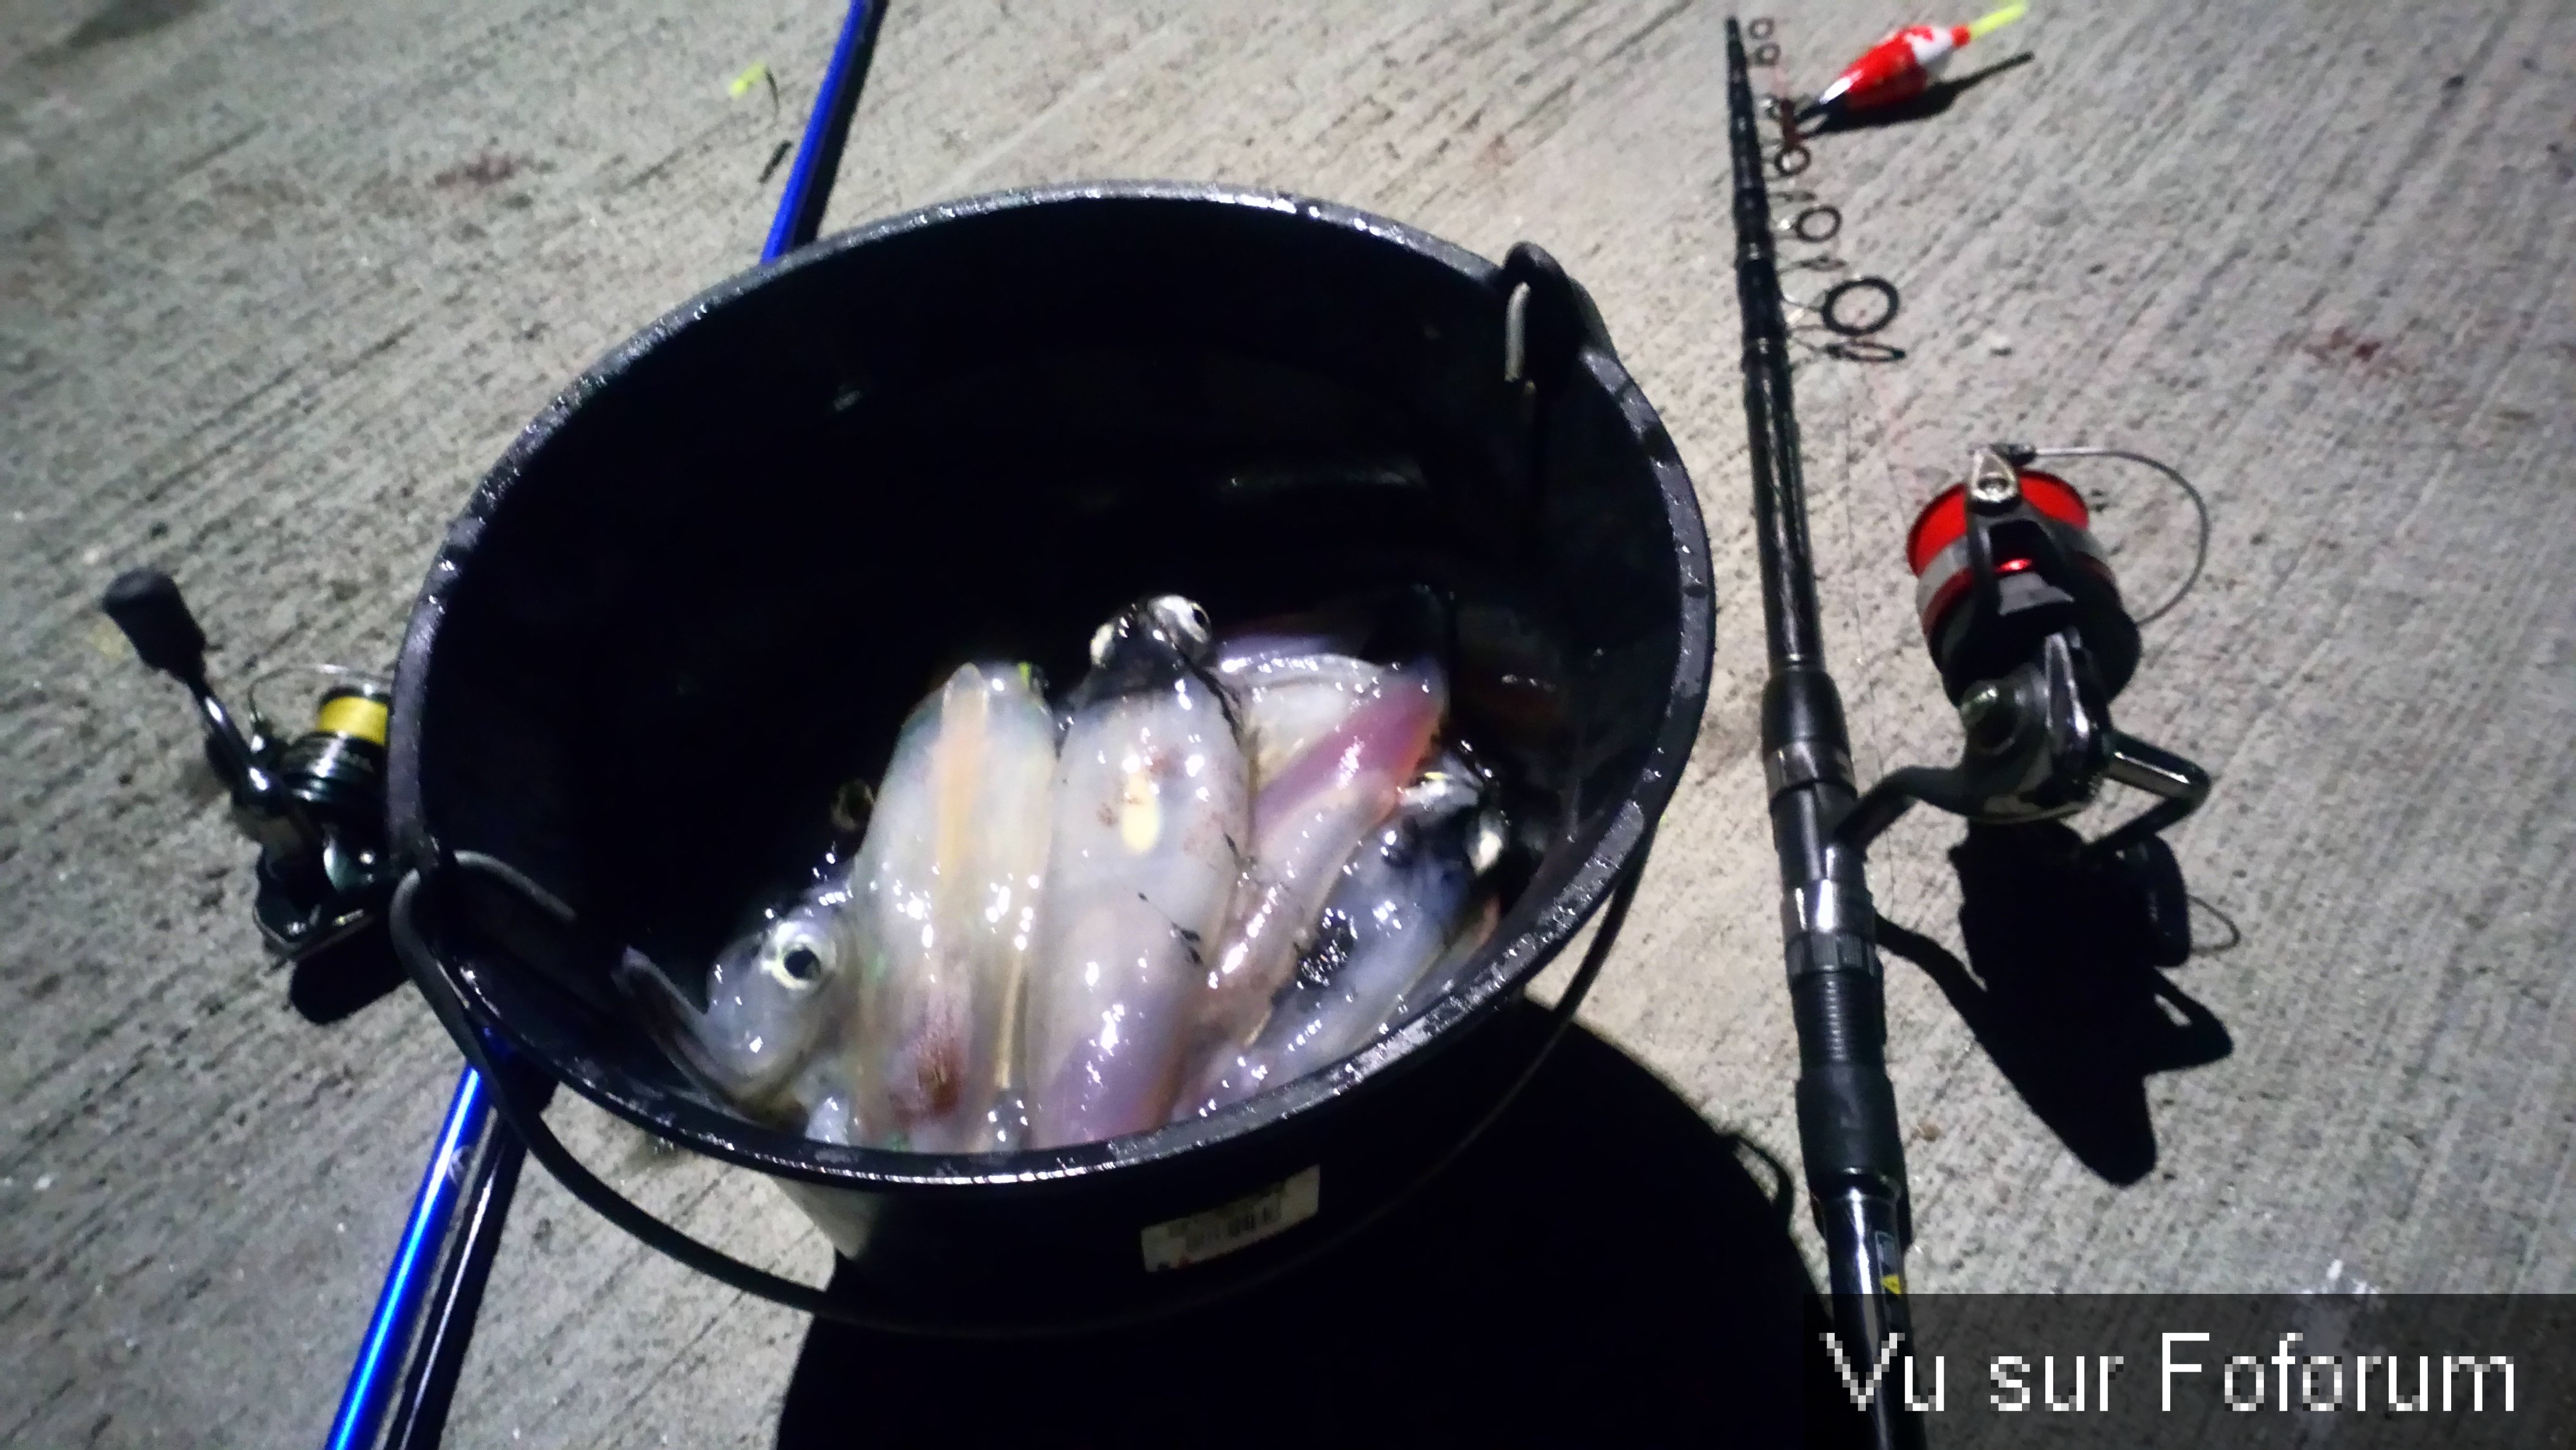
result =
[{"label": "black telescopic fishing rod shaft, without its red-spooled reel", "polygon": [[[1788,317],[1772,260],[1762,131],[1744,70],[1744,31],[1726,21],[1726,129],[1736,165],[1736,301],[1744,312],[1744,422],[1762,549],[1762,778],[1780,852],[1780,932],[1798,1022],[1798,1151],[1824,1234],[1834,1350],[1847,1380],[1870,1383],[1896,1334],[1911,1339],[1906,1272],[1906,1156],[1886,1066],[1886,994],[1860,850],[1834,840],[1852,809],[1852,744],[1824,672],[1816,561],[1806,546],[1806,479],[1790,397]],[[1904,1352],[1904,1347],[1899,1347]],[[1922,1419],[1875,1375],[1870,1445],[1917,1450]]]}]

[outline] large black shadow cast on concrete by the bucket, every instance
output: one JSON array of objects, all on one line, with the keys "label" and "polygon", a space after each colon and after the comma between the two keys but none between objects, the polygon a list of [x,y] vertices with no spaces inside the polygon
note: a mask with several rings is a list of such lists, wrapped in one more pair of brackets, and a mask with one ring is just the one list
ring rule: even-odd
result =
[{"label": "large black shadow cast on concrete by the bucket", "polygon": [[1803,1396],[1832,1370],[1803,1350],[1788,1198],[1775,1159],[1577,1028],[1476,1146],[1314,1267],[1082,1339],[814,1324],[778,1445],[1816,1442]]}]

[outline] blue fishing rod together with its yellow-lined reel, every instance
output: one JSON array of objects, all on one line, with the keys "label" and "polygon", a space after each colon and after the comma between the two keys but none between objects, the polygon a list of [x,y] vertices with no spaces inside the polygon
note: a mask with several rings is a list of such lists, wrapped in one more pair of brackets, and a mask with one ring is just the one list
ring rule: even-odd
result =
[{"label": "blue fishing rod together with its yellow-lined reel", "polygon": [[[884,0],[850,0],[760,250],[762,263],[822,232],[884,18]],[[196,703],[206,760],[232,793],[234,819],[260,845],[252,914],[268,950],[312,963],[325,950],[363,945],[358,937],[381,932],[384,907],[402,876],[384,840],[389,685],[363,670],[322,667],[335,683],[314,726],[281,742],[258,711],[258,680],[247,713],[227,711],[214,695],[206,634],[167,574],[129,569],[108,585],[100,608],[142,662],[185,685]],[[495,1069],[510,1071],[497,1043],[492,1053]],[[544,1105],[554,1084],[531,1074],[523,1087],[531,1102]],[[526,1156],[526,1141],[492,1110],[492,1084],[466,1066],[350,1362],[325,1440],[330,1450],[430,1450],[440,1442]]]}]

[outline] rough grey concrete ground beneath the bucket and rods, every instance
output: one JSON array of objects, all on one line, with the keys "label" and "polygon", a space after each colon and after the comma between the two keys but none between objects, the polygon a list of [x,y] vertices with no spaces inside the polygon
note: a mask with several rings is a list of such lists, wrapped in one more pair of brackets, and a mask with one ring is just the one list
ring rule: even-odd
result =
[{"label": "rough grey concrete ground beneath the bucket and rods", "polygon": [[[1965,15],[1801,5],[1788,75],[1914,18]],[[1584,278],[1723,579],[1690,783],[1584,1017],[1793,1156],[1721,21],[899,0],[832,224],[1231,178]],[[456,1069],[410,994],[289,1012],[180,695],[100,585],[175,569],[222,680],[389,659],[510,433],[755,255],[835,26],[832,0],[0,0],[0,1440],[319,1437]],[[2576,10],[2043,0],[1986,46],[2035,62],[1806,178],[1906,294],[1901,363],[1801,371],[1860,767],[1950,749],[1899,541],[1963,451],[2159,453],[2215,536],[2120,721],[2218,775],[2174,845],[2202,940],[2223,914],[2241,945],[2174,974],[2233,1051],[2148,1077],[2112,1141],[2053,1131],[1891,961],[1917,1283],[2576,1290]],[[750,62],[778,108],[726,95]],[[2081,479],[2130,587],[2174,585],[2161,484]],[[1947,953],[1958,834],[1909,819],[1875,865]],[[757,1185],[559,1115],[701,1234],[822,1265]],[[801,1332],[531,1174],[453,1442],[765,1445]]]}]

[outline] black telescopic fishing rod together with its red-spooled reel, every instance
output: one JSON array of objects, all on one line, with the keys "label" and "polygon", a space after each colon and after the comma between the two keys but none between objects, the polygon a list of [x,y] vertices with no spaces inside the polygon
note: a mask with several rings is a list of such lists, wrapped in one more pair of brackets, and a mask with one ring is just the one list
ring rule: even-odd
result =
[{"label": "black telescopic fishing rod together with its red-spooled reel", "polygon": [[[2020,5],[2007,5],[1940,36],[1940,44],[1955,49],[2017,15]],[[1911,44],[1919,52],[1914,41],[1922,41],[1917,31],[1901,31],[1880,49]],[[1777,59],[1777,46],[1765,49]],[[1919,77],[1914,85],[1919,90]],[[2017,847],[2038,850],[2030,863],[2136,896],[2159,963],[2179,963],[2190,953],[2182,878],[2156,837],[2200,809],[2210,778],[2200,765],[2115,729],[2110,703],[2138,670],[2138,626],[2169,613],[2200,579],[2210,510],[2182,471],[2128,448],[1976,448],[1965,479],[1924,505],[1906,531],[1924,646],[1963,729],[1958,762],[1888,770],[1855,793],[1842,701],[1824,667],[1816,618],[1790,389],[1790,304],[1780,294],[1759,111],[1736,21],[1726,23],[1726,106],[1744,420],[1770,641],[1762,752],[1798,1025],[1798,1146],[1826,1241],[1832,1352],[1842,1383],[1868,1419],[1873,1445],[1919,1447],[1922,1419],[1909,1396],[1888,1388],[1896,1355],[1911,1362],[1904,1275],[1911,1210],[1896,1092],[1886,1071],[1886,994],[1865,852],[1914,804],[1971,822],[1971,840],[1978,829],[2012,832]],[[1772,106],[1772,118],[1783,126],[1783,149],[1770,165],[1806,170],[1798,108],[1783,100]],[[2192,572],[2172,598],[2143,616],[2128,613],[2110,554],[2092,536],[2084,494],[2035,466],[2058,458],[2138,464],[2182,489],[2197,515],[2197,536]],[[2063,822],[2089,806],[2105,783],[2130,786],[2154,804],[2092,842],[2063,827],[2053,834],[2014,829]]]}]

